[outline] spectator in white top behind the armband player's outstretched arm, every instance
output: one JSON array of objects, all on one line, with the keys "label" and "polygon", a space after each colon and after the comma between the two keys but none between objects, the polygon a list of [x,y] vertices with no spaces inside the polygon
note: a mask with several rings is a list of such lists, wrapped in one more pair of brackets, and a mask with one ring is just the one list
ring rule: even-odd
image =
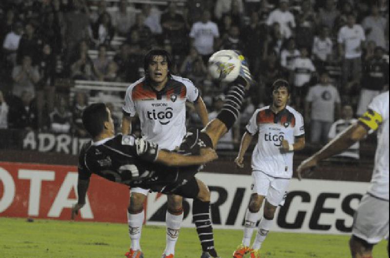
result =
[{"label": "spectator in white top behind the armband player's outstretched arm", "polygon": [[[351,125],[357,122],[356,118],[353,118],[353,109],[351,105],[343,106],[342,118],[337,120],[331,125],[329,130],[328,139],[331,141],[334,139],[340,132],[349,128]],[[354,143],[346,151],[335,155],[335,157],[349,158],[353,160],[358,160],[359,155],[359,142]]]}]

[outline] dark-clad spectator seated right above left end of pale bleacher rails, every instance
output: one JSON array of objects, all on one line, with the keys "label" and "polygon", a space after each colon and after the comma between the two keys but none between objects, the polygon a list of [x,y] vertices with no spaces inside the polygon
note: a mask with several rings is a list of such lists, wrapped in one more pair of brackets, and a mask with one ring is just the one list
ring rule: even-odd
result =
[{"label": "dark-clad spectator seated right above left end of pale bleacher rails", "polygon": [[71,76],[75,80],[92,80],[94,77],[94,64],[88,55],[88,44],[85,40],[79,43],[78,51],[71,58]]}]

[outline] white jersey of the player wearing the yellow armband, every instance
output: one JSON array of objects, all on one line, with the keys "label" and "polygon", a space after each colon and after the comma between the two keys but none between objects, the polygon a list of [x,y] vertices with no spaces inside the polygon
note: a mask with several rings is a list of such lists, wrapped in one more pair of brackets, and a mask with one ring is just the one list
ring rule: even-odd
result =
[{"label": "white jersey of the player wearing the yellow armband", "polygon": [[367,129],[378,130],[374,171],[369,193],[389,201],[389,91],[371,101],[368,111],[359,118]]}]

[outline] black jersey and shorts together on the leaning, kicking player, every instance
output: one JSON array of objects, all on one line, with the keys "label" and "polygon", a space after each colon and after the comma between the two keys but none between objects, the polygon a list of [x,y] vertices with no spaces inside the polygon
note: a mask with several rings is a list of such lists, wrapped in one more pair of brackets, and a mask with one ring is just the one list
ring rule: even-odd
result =
[{"label": "black jersey and shorts together on the leaning, kicking player", "polygon": [[[178,151],[199,155],[201,147],[211,147],[207,134],[189,130]],[[117,135],[89,142],[81,149],[78,177],[88,180],[92,173],[110,181],[163,193],[182,193],[187,182],[202,166],[166,166],[155,163],[158,146],[132,135]],[[183,194],[182,194],[183,195]],[[184,196],[190,196],[185,194]]]}]

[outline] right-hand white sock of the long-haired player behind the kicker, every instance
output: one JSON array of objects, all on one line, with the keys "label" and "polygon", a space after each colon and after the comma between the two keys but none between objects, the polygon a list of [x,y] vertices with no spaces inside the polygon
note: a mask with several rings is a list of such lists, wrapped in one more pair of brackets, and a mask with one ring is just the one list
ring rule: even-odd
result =
[{"label": "right-hand white sock of the long-haired player behind the kicker", "polygon": [[175,245],[179,237],[180,225],[183,221],[184,212],[180,215],[174,215],[167,211],[165,221],[167,223],[167,243],[164,254],[175,254]]}]

